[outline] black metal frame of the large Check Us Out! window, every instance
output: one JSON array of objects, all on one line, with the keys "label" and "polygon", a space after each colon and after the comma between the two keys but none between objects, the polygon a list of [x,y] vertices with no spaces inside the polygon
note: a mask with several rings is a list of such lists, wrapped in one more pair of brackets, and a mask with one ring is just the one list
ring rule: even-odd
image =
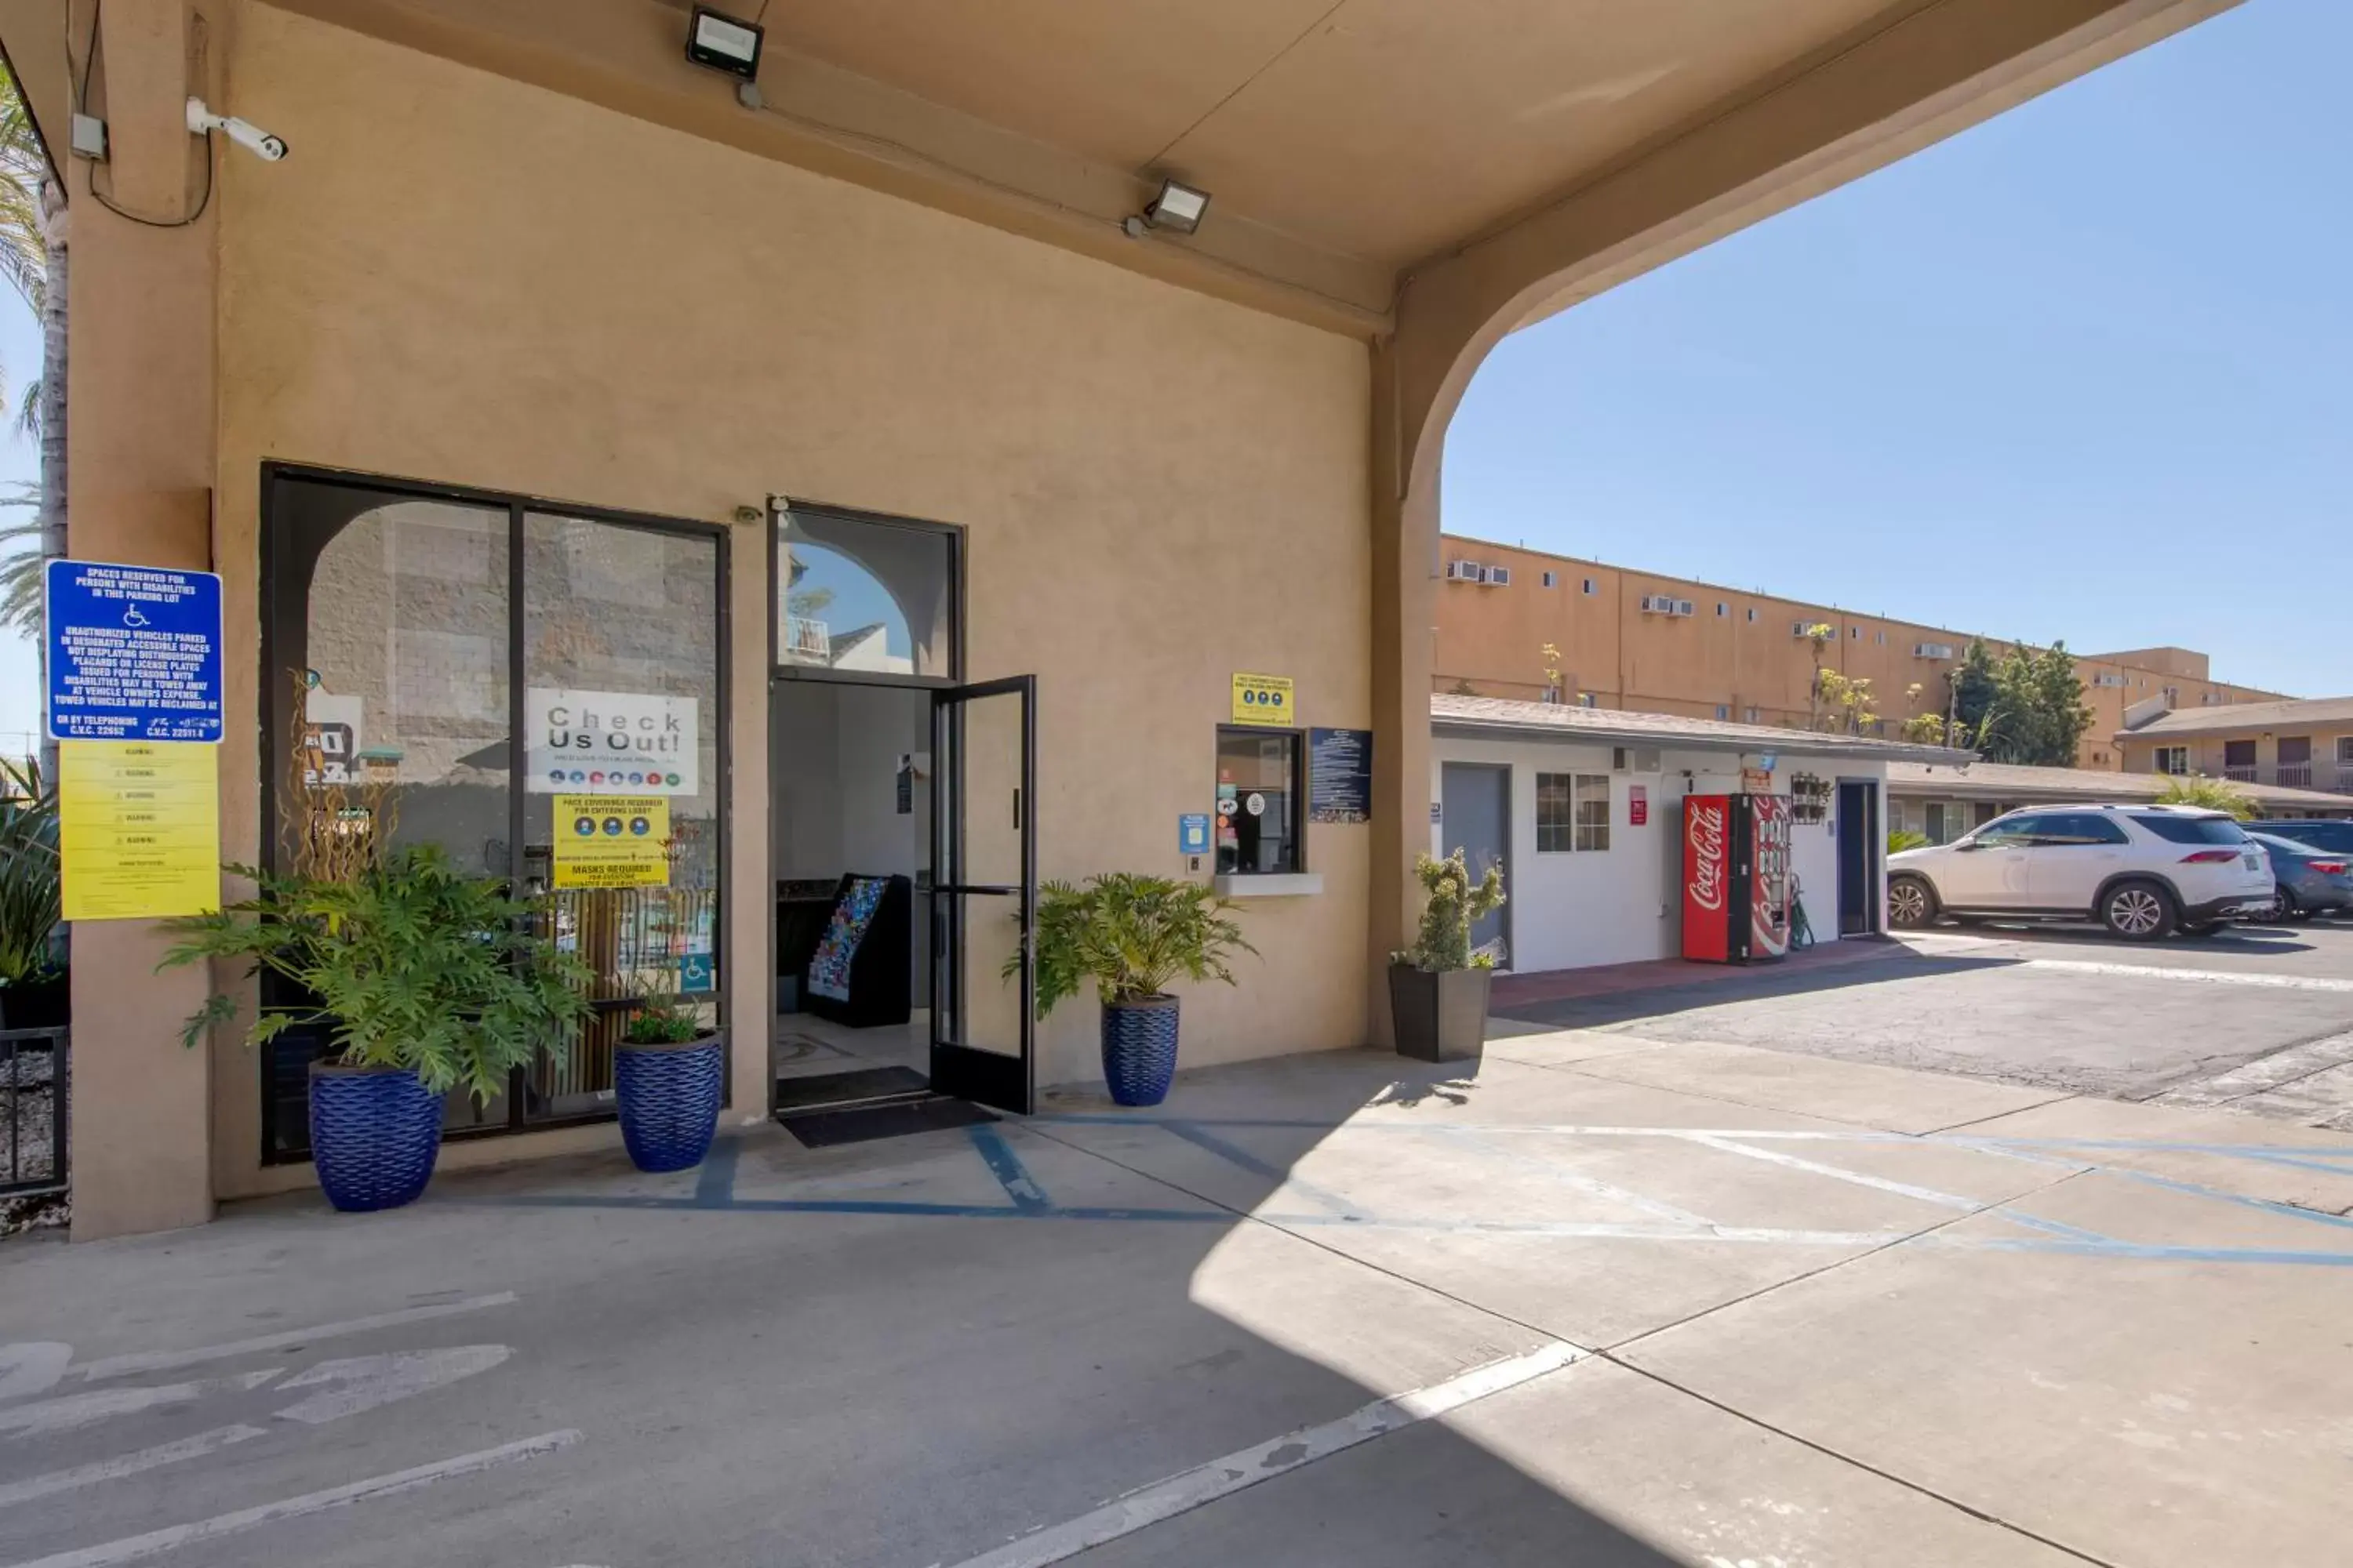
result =
[{"label": "black metal frame of the large Check Us Out! window", "polygon": [[[259,538],[256,538],[256,599],[261,635],[259,668],[261,668],[261,691],[256,693],[261,708],[261,722],[256,729],[256,752],[261,764],[261,790],[259,790],[259,816],[261,816],[261,865],[268,870],[278,867],[282,844],[278,830],[278,797],[282,790],[282,759],[278,757],[280,736],[273,733],[275,696],[273,691],[282,684],[280,679],[280,637],[278,637],[278,567],[282,543],[280,543],[280,484],[315,484],[329,489],[358,489],[372,496],[384,496],[386,503],[398,501],[447,501],[449,505],[464,505],[485,512],[506,512],[506,745],[508,745],[508,790],[506,790],[506,858],[508,858],[508,889],[520,889],[527,879],[527,832],[525,811],[529,802],[525,799],[525,776],[522,776],[522,736],[525,736],[525,710],[529,703],[529,581],[525,574],[525,541],[529,538],[529,517],[562,517],[574,522],[593,522],[602,527],[631,529],[638,534],[664,534],[673,538],[708,538],[713,545],[711,574],[713,574],[713,618],[715,618],[715,715],[713,715],[713,759],[718,766],[715,785],[715,811],[718,811],[718,903],[711,919],[711,954],[718,964],[718,973],[725,983],[713,992],[713,1006],[718,1009],[718,1027],[732,1030],[732,1006],[734,994],[734,966],[727,964],[727,943],[734,936],[729,922],[729,903],[734,900],[734,766],[732,766],[732,743],[734,743],[734,623],[732,623],[732,592],[734,583],[734,536],[722,522],[704,522],[696,517],[664,517],[656,512],[628,512],[607,505],[586,505],[576,501],[558,501],[551,496],[525,496],[518,491],[478,489],[471,484],[442,484],[435,480],[407,480],[398,475],[374,475],[351,468],[325,468],[315,463],[287,463],[268,458],[261,463],[261,505],[259,505]],[[365,515],[365,512],[362,512]],[[774,578],[774,574],[769,574]],[[304,588],[304,607],[308,611],[311,588]],[[774,618],[774,616],[769,616]],[[958,618],[962,625],[962,618]],[[958,649],[962,654],[962,649]],[[308,651],[306,651],[308,658]],[[271,1095],[271,1074],[266,1070],[268,1058],[254,1053],[254,1088],[261,1095],[261,1119],[256,1135],[261,1143],[264,1166],[294,1166],[311,1164],[308,1147],[301,1154],[280,1152],[278,1143],[278,1107]],[[619,1110],[595,1110],[572,1117],[548,1117],[529,1119],[529,1095],[525,1084],[532,1067],[518,1067],[508,1074],[506,1086],[506,1124],[482,1124],[482,1126],[454,1126],[442,1131],[445,1143],[466,1143],[475,1138],[515,1138],[520,1133],[551,1133],[567,1126],[595,1126],[614,1121]],[[722,1084],[722,1098],[725,1098]]]}]

